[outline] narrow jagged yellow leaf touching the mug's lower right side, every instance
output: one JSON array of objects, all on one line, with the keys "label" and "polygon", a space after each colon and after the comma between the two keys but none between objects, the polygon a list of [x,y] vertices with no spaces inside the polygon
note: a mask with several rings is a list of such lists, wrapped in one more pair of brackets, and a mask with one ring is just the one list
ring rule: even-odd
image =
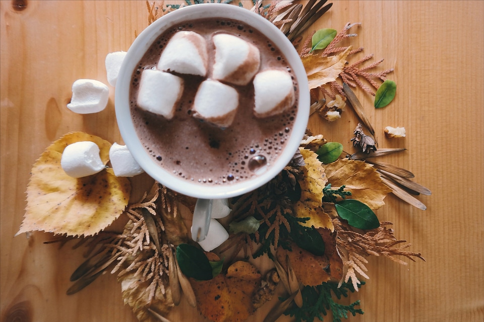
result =
[{"label": "narrow jagged yellow leaf touching the mug's lower right side", "polygon": [[321,207],[323,204],[323,189],[328,181],[324,174],[323,165],[318,160],[318,154],[311,150],[299,148],[306,165],[302,167],[302,180],[299,181],[301,187],[301,198],[294,205],[296,217],[310,217],[303,226],[315,228],[329,228],[334,230],[331,218]]}]

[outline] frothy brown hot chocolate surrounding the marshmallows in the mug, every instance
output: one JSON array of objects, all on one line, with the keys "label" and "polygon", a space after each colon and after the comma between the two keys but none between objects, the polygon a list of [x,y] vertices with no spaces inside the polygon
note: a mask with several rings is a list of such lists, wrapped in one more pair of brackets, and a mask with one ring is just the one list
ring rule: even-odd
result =
[{"label": "frothy brown hot chocolate surrounding the marshmallows in the mug", "polygon": [[[183,93],[171,118],[138,105],[144,70],[156,69],[169,40],[178,32],[193,31],[206,39],[206,75],[168,72],[183,79]],[[215,48],[213,35],[225,33],[244,39],[260,52],[259,72],[285,70],[292,76],[295,102],[274,116],[255,116],[253,82],[229,84],[238,93],[238,107],[227,127],[194,117],[194,101],[202,82],[212,77]],[[226,83],[221,81],[222,83]],[[228,83],[227,83],[228,84]],[[152,158],[173,176],[203,185],[232,185],[264,173],[285,148],[297,112],[298,84],[280,50],[263,34],[236,20],[193,20],[173,26],[161,34],[140,60],[132,75],[130,109],[136,132]],[[296,152],[296,151],[294,151]]]}]

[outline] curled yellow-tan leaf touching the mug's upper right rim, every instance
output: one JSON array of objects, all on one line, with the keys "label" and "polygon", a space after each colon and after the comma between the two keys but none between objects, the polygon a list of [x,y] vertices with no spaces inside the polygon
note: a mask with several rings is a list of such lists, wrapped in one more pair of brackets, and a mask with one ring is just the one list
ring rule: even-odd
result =
[{"label": "curled yellow-tan leaf touching the mug's upper right rim", "polygon": [[302,64],[308,75],[309,89],[315,89],[329,82],[336,81],[343,71],[346,57],[351,46],[336,56],[321,57],[320,55],[306,55],[301,57]]}]

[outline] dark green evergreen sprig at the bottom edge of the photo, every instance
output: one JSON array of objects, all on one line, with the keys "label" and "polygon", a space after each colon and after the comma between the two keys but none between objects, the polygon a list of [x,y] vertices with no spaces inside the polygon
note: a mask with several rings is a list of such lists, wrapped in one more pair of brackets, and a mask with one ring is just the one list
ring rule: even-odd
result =
[{"label": "dark green evergreen sprig at the bottom edge of the photo", "polygon": [[[361,282],[358,287],[365,284]],[[323,315],[327,315],[330,310],[333,313],[333,321],[341,322],[341,318],[348,318],[348,312],[355,316],[356,313],[363,314],[360,308],[355,308],[360,301],[357,300],[349,305],[339,304],[334,301],[332,293],[340,299],[341,296],[347,297],[348,291],[354,292],[351,283],[342,283],[338,288],[338,284],[333,282],[323,283],[318,286],[306,285],[301,290],[302,306],[293,306],[287,309],[284,314],[295,317],[295,322],[313,322],[315,318],[324,321]]]}]

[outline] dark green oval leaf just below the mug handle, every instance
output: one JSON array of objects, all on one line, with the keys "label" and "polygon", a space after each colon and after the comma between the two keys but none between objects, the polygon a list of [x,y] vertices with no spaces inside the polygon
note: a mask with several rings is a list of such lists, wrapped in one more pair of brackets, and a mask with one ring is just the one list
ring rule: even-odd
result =
[{"label": "dark green oval leaf just below the mug handle", "polygon": [[208,281],[213,278],[212,266],[203,251],[195,246],[180,244],[176,247],[176,260],[181,272],[197,280]]}]

